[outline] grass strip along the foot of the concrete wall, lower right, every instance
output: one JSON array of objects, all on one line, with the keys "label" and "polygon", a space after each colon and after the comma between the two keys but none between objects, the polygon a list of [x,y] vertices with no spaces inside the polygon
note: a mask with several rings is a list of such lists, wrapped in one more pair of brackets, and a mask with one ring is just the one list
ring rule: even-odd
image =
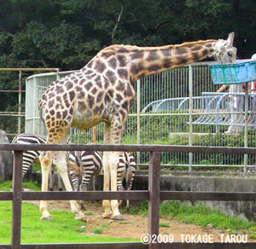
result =
[{"label": "grass strip along the foot of the concrete wall, lower right", "polygon": [[[131,214],[148,215],[148,202],[141,201],[139,206],[131,206],[130,212]],[[160,204],[160,217],[173,218],[183,223],[193,223],[203,227],[212,224],[213,228],[222,231],[229,230],[231,234],[249,232],[251,238],[256,238],[255,223],[225,216],[221,211],[213,210],[200,202],[196,202],[194,206],[187,206],[177,200],[165,200]]]}]

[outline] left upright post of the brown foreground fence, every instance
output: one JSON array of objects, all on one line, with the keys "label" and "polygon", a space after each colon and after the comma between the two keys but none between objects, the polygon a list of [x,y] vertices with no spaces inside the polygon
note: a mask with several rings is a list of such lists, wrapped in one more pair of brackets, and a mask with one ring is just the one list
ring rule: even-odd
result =
[{"label": "left upright post of the brown foreground fence", "polygon": [[22,151],[14,152],[13,206],[12,206],[12,249],[20,249],[21,194],[22,194]]}]

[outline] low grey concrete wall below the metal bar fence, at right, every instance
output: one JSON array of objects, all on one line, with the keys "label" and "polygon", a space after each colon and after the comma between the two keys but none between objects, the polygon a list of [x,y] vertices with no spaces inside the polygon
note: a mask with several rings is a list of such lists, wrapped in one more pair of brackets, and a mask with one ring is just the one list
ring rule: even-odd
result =
[{"label": "low grey concrete wall below the metal bar fence, at right", "polygon": [[[148,176],[137,175],[133,189],[148,189]],[[161,176],[160,189],[171,191],[256,192],[256,179],[253,177]],[[192,201],[186,202],[189,205],[193,205]],[[253,201],[207,200],[203,201],[203,203],[231,217],[256,220],[256,203]]]}]

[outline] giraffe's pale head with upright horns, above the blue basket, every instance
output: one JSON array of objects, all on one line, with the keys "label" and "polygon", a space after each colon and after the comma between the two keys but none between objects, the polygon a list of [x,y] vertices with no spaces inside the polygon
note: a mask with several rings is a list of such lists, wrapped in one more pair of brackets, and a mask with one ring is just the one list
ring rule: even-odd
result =
[{"label": "giraffe's pale head with upright horns, above the blue basket", "polygon": [[220,64],[236,63],[236,48],[233,47],[235,33],[231,32],[227,40],[218,40],[213,46],[212,55]]}]

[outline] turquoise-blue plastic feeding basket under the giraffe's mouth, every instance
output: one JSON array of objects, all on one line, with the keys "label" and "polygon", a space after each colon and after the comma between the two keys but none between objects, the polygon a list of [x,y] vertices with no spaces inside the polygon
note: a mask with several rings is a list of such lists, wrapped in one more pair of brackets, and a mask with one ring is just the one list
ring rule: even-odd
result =
[{"label": "turquoise-blue plastic feeding basket under the giraffe's mouth", "polygon": [[236,61],[236,64],[209,66],[213,84],[242,84],[256,80],[256,61]]}]

